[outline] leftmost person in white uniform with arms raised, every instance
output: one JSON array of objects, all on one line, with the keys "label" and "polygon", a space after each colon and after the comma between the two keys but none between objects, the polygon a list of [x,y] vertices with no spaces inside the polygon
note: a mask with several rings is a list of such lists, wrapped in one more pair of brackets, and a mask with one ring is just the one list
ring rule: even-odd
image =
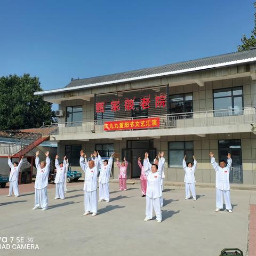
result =
[{"label": "leftmost person in white uniform with arms raised", "polygon": [[11,157],[8,156],[8,164],[11,168],[10,176],[9,176],[9,194],[7,196],[12,196],[12,190],[15,197],[19,196],[19,173],[21,169],[21,165],[23,161],[23,156],[20,159],[20,162],[14,162],[12,164]]}]

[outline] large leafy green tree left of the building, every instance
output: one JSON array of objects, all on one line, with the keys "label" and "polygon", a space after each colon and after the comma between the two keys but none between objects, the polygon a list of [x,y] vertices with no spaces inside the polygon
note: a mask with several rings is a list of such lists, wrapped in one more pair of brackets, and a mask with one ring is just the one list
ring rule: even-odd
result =
[{"label": "large leafy green tree left of the building", "polygon": [[9,75],[0,77],[0,129],[20,130],[55,122],[52,103],[35,91],[42,91],[38,77]]}]

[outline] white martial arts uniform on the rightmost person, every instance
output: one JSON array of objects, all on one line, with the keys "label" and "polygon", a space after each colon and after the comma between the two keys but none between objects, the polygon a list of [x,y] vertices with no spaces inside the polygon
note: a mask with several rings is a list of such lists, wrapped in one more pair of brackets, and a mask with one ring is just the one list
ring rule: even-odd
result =
[{"label": "white martial arts uniform on the rightmost person", "polygon": [[227,210],[232,210],[230,202],[230,185],[229,172],[232,164],[232,159],[228,158],[227,166],[221,168],[216,162],[215,158],[211,157],[212,166],[216,172],[216,208],[223,209],[223,196]]}]

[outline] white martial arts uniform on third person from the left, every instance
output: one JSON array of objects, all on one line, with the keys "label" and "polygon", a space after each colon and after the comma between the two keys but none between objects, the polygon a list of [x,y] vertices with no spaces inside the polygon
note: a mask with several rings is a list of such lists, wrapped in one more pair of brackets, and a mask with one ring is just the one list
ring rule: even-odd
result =
[{"label": "white martial arts uniform on third person from the left", "polygon": [[57,168],[56,176],[55,176],[55,199],[64,199],[64,182],[65,182],[65,172],[66,172],[66,159],[63,160],[63,166],[60,167],[59,161],[55,159],[55,167]]}]

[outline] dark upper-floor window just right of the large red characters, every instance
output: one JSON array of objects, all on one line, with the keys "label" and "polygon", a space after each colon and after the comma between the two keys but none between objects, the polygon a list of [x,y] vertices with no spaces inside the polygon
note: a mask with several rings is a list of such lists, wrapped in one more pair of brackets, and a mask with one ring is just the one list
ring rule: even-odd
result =
[{"label": "dark upper-floor window just right of the large red characters", "polygon": [[170,114],[193,112],[193,93],[170,95]]}]

